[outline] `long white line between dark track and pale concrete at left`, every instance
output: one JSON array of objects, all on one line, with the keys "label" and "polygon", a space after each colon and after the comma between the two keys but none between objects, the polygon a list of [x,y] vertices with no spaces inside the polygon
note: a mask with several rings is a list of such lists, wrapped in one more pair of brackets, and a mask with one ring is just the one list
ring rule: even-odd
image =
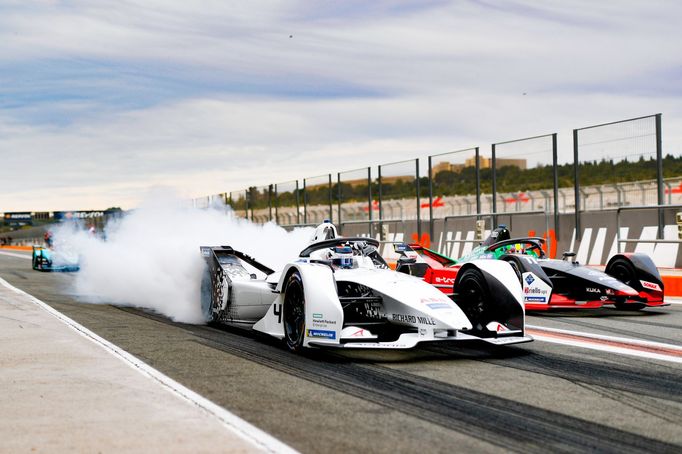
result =
[{"label": "long white line between dark track and pale concrete at left", "polygon": [[211,402],[205,397],[200,396],[199,394],[195,393],[189,388],[186,388],[185,386],[176,382],[172,378],[164,375],[163,373],[159,372],[150,365],[134,357],[130,353],[121,349],[120,347],[112,344],[108,340],[98,336],[97,334],[93,333],[83,325],[70,319],[61,312],[55,310],[50,305],[42,302],[35,296],[26,293],[25,291],[17,287],[14,287],[12,284],[10,284],[9,282],[2,278],[0,278],[0,285],[3,285],[4,287],[8,288],[9,290],[15,293],[28,297],[33,303],[37,304],[42,309],[46,310],[48,313],[59,319],[61,322],[66,324],[68,327],[70,327],[80,335],[84,336],[85,338],[89,339],[90,341],[94,342],[100,347],[104,348],[106,351],[116,356],[133,369],[136,369],[141,374],[151,378],[152,380],[155,380],[166,390],[208,412],[209,414],[217,418],[225,426],[227,426],[229,429],[231,429],[233,432],[235,432],[237,435],[255,444],[259,448],[271,453],[294,454],[298,452],[292,449],[291,447],[287,446],[286,444],[282,443],[281,441],[277,440],[270,434],[263,432],[259,428],[239,418],[235,414]]}]

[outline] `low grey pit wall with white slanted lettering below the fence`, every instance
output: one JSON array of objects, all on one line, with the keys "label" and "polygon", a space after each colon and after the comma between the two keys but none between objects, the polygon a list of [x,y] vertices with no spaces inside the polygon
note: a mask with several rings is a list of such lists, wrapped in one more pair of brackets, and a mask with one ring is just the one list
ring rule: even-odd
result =
[{"label": "low grey pit wall with white slanted lettering below the fence", "polygon": [[[675,223],[677,209],[663,209],[664,240],[678,240]],[[558,228],[554,217],[545,214],[499,215],[497,224],[506,224],[512,237],[540,236],[547,240],[545,252],[551,258],[561,258],[563,252],[573,251],[582,264],[600,266],[617,252],[617,225],[620,217],[621,239],[651,240],[658,231],[656,210],[616,210],[585,212],[581,216],[581,232],[576,235],[575,215],[559,215]],[[484,237],[490,233],[493,222],[486,220]],[[475,241],[476,217],[434,220],[433,234],[429,224],[422,221],[421,237],[417,234],[417,221],[348,223],[340,226],[344,236],[372,236],[386,241],[418,242],[450,257],[461,257],[478,245]],[[381,238],[381,233],[384,233]],[[642,252],[649,255],[659,268],[682,268],[681,242],[677,243],[622,243],[621,252]],[[382,253],[391,256],[392,246],[385,244]]]}]

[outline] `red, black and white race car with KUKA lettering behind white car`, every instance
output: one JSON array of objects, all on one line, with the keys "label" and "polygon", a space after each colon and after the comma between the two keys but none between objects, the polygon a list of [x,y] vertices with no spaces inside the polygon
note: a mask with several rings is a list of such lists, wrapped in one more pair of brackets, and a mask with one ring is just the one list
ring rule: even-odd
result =
[{"label": "red, black and white race car with KUKA lettering behind white car", "polygon": [[[663,299],[663,281],[647,255],[616,254],[602,272],[581,266],[574,260],[574,253],[565,253],[561,260],[548,258],[542,248],[544,241],[539,237],[511,238],[506,226],[501,225],[459,260],[418,245],[411,248],[439,270],[441,279],[456,275],[459,266],[472,260],[498,259],[512,263],[522,279],[526,310],[599,308],[605,304],[621,310],[639,310],[667,305]],[[538,266],[542,273],[538,272]],[[435,273],[425,274],[424,278],[438,283]],[[551,295],[545,293],[548,283]]]}]

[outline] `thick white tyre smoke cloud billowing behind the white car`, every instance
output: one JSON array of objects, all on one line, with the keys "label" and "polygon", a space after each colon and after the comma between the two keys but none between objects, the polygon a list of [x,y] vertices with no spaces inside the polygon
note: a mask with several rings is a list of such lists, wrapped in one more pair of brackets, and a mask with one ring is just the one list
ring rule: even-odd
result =
[{"label": "thick white tyre smoke cloud billowing behind the white car", "polygon": [[203,323],[199,292],[205,262],[199,246],[230,245],[277,270],[298,256],[311,233],[253,224],[223,206],[196,209],[157,196],[109,223],[105,239],[83,227],[62,226],[55,230],[55,244],[78,251],[81,269],[74,285],[82,301]]}]

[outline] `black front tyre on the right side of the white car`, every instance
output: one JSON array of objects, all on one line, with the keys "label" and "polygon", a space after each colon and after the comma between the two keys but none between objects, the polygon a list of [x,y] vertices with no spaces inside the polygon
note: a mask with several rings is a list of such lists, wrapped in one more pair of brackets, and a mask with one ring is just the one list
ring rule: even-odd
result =
[{"label": "black front tyre on the right side of the white car", "polygon": [[457,305],[476,331],[482,331],[490,322],[488,301],[490,290],[483,274],[476,268],[467,268],[455,285]]}]

